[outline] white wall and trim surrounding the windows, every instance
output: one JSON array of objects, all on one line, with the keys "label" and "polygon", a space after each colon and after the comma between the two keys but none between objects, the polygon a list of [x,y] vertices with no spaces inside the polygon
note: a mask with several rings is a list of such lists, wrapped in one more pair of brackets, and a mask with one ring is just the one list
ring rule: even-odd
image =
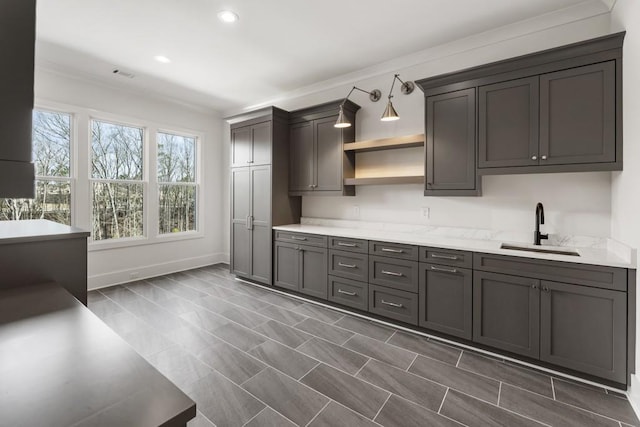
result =
[{"label": "white wall and trim surrounding the windows", "polygon": [[[93,114],[114,116],[153,129],[182,130],[202,136],[201,236],[124,248],[96,250],[90,247],[90,289],[130,281],[132,273],[137,273],[138,277],[150,277],[228,259],[228,245],[223,243],[228,241],[228,237],[226,240],[224,237],[227,223],[223,223],[227,203],[222,202],[228,200],[228,196],[221,185],[228,171],[223,167],[222,121],[217,113],[43,69],[36,70],[35,96],[36,107],[54,107],[74,113],[77,177],[89,174],[86,161],[88,117]],[[226,157],[224,159],[226,164]],[[85,230],[90,229],[89,194],[87,180],[76,180],[73,222]],[[148,224],[148,227],[154,226]]]}]

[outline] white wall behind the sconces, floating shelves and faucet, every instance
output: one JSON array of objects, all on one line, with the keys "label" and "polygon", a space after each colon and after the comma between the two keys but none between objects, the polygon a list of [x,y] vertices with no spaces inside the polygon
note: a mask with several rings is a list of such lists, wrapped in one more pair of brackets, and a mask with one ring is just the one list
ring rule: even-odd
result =
[{"label": "white wall behind the sconces, floating shelves and faucet", "polygon": [[[608,14],[554,26],[546,21],[514,25],[474,36],[431,50],[427,62],[397,69],[403,80],[421,78],[486,64],[526,53],[561,46],[609,33]],[[533,31],[532,27],[544,27]],[[424,56],[424,52],[421,54]],[[356,139],[374,139],[424,133],[424,97],[419,89],[402,95],[396,87],[394,106],[401,118],[397,122],[381,122],[393,78],[393,72],[348,82],[305,96],[285,99],[277,105],[293,110],[344,97],[353,84],[383,92],[378,103],[366,94],[354,92],[352,100],[362,106],[357,116]],[[228,141],[228,136],[226,137]],[[391,151],[382,156],[394,156]],[[359,155],[361,164],[373,160]],[[396,155],[397,156],[397,155]],[[358,159],[356,163],[358,163]],[[370,161],[371,160],[371,161]],[[394,161],[393,158],[390,159]],[[418,154],[414,163],[402,160],[403,167],[422,168]],[[546,231],[563,234],[609,236],[611,221],[611,173],[544,174],[492,176],[483,179],[482,197],[424,197],[420,185],[371,186],[357,188],[356,197],[304,197],[303,215],[355,219],[353,206],[360,208],[361,220],[426,223],[457,227],[498,230],[532,230],[535,204],[545,205]],[[421,207],[429,207],[431,219],[423,221]]]}]

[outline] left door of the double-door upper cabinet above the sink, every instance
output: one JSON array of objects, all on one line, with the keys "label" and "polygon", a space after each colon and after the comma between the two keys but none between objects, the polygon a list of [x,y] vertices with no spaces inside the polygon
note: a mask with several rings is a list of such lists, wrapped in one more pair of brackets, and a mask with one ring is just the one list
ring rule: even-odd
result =
[{"label": "left door of the double-door upper cabinet above the sink", "polygon": [[538,77],[478,88],[478,168],[538,164]]}]

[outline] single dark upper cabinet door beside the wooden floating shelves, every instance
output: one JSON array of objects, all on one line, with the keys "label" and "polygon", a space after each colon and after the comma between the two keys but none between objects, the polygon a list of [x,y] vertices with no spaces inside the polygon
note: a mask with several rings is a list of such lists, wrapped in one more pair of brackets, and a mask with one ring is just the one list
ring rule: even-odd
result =
[{"label": "single dark upper cabinet door beside the wooden floating shelves", "polygon": [[475,190],[475,88],[427,97],[426,115],[425,195]]}]

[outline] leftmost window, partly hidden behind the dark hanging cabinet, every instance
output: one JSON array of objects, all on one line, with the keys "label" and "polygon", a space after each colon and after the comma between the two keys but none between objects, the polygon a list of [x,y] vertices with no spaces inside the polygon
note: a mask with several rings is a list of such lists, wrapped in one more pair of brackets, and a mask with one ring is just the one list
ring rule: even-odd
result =
[{"label": "leftmost window, partly hidden behind the dark hanging cabinet", "polygon": [[0,199],[0,220],[48,219],[71,225],[71,115],[33,112],[33,199]]}]

